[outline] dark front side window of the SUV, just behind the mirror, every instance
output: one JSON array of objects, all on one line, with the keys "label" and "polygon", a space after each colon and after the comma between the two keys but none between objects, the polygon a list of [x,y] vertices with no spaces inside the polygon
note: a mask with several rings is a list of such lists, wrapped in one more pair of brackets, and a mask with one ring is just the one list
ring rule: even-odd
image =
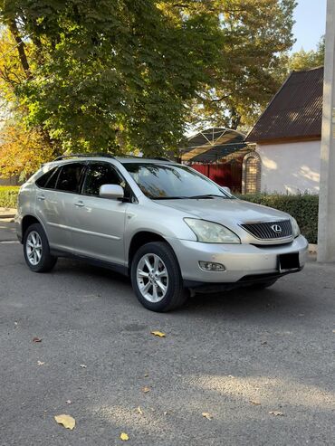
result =
[{"label": "dark front side window of the SUV, just behind the mirror", "polygon": [[125,181],[110,164],[92,163],[85,178],[82,194],[99,195],[101,185],[121,185],[124,187]]}]

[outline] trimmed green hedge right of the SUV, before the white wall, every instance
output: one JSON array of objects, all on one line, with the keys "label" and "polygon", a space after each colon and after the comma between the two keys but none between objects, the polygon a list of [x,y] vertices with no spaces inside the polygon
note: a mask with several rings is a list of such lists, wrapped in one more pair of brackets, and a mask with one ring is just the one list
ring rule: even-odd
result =
[{"label": "trimmed green hedge right of the SUV, before the white wall", "polygon": [[241,200],[274,207],[291,214],[310,243],[318,242],[319,195],[246,194]]}]

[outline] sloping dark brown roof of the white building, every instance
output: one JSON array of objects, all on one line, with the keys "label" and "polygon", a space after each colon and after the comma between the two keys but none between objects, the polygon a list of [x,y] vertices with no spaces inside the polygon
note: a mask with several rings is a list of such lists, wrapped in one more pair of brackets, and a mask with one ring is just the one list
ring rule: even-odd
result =
[{"label": "sloping dark brown roof of the white building", "polygon": [[323,67],[293,71],[245,141],[321,138]]}]

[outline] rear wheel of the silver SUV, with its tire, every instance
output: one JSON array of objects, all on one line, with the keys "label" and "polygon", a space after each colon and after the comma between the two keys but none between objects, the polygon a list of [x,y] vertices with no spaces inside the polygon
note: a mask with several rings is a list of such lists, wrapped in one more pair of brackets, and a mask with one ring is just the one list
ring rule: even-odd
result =
[{"label": "rear wheel of the silver SUV, with its tire", "polygon": [[50,253],[49,242],[39,223],[31,224],[24,233],[24,259],[34,272],[53,270],[57,257]]}]

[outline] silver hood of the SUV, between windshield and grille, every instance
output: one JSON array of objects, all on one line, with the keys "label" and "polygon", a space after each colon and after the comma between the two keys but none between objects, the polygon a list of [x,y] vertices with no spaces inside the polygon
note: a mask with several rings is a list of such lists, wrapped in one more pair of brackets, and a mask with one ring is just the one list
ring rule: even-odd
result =
[{"label": "silver hood of the SUV, between windshield and grille", "polygon": [[[157,204],[192,214],[203,220],[235,226],[239,223],[258,223],[287,220],[288,214],[261,204],[220,197],[206,199],[159,200]],[[187,215],[186,215],[187,216]]]}]

